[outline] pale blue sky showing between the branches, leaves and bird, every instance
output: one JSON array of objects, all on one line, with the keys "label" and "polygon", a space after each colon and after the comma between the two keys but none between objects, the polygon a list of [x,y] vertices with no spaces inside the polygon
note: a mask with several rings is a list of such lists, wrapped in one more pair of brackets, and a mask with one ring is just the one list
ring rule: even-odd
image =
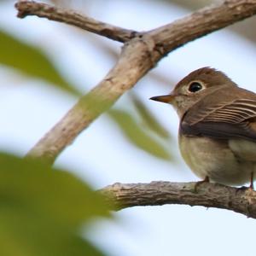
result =
[{"label": "pale blue sky showing between the branches, leaves and bird", "polygon": [[[137,30],[154,28],[186,14],[183,9],[158,1],[102,3],[105,6],[91,4],[90,15]],[[102,42],[100,37],[92,40],[90,34],[84,37],[84,32],[74,33],[70,27],[49,20],[18,20],[10,4],[1,5],[0,27],[42,46],[68,79],[83,90],[93,87],[113,66],[106,49],[95,43]],[[110,43],[113,49],[120,45]],[[224,29],[177,49],[160,61],[154,72],[177,82],[196,68],[216,67],[242,87],[255,90],[255,59],[254,44]],[[28,80],[8,69],[0,69],[0,81],[0,149],[18,154],[26,154],[76,102],[43,82]],[[165,94],[172,85],[165,88],[145,78],[137,92],[176,137],[178,120],[174,110],[148,101],[150,96]],[[124,96],[118,105],[129,109],[127,102]],[[74,170],[96,189],[115,182],[195,181],[197,178],[178,154],[177,141],[171,147],[177,154],[177,165],[154,159],[127,143],[103,115],[61,154],[56,165]],[[93,225],[90,232],[92,241],[111,256],[254,255],[256,222],[235,212],[172,205],[134,207],[115,216],[115,221],[102,220]]]}]

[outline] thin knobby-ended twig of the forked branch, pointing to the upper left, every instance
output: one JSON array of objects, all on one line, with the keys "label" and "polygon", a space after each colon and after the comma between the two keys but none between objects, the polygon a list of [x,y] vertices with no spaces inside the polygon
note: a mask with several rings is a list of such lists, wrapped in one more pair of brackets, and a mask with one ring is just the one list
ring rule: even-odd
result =
[{"label": "thin knobby-ended twig of the forked branch, pointing to the upper left", "polygon": [[18,17],[25,18],[27,15],[37,15],[49,20],[61,21],[70,25],[78,26],[86,31],[94,32],[106,38],[119,42],[126,42],[137,35],[136,31],[113,26],[99,20],[79,14],[76,11],[54,7],[46,3],[33,1],[20,1],[15,4],[18,9]]}]

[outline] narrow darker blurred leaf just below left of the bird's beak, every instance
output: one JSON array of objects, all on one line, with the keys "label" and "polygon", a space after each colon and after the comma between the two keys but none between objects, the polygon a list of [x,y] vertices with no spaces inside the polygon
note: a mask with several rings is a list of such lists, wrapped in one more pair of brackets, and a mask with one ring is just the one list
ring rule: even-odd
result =
[{"label": "narrow darker blurred leaf just below left of the bird's beak", "polygon": [[170,133],[166,131],[165,127],[159,123],[159,121],[154,117],[154,115],[149,111],[145,104],[134,94],[130,93],[131,100],[134,103],[137,112],[140,114],[144,123],[148,125],[151,131],[154,131],[160,137],[164,139],[169,139]]}]

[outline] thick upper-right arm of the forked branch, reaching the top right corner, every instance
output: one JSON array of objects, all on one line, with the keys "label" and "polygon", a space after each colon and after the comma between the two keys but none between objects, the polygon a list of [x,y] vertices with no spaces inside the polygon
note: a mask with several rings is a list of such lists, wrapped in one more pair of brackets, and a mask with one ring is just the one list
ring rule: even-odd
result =
[{"label": "thick upper-right arm of the forked branch, reaching the top right corner", "polygon": [[196,38],[255,14],[256,0],[226,0],[218,5],[200,9],[166,26],[160,26],[149,33],[165,55]]}]

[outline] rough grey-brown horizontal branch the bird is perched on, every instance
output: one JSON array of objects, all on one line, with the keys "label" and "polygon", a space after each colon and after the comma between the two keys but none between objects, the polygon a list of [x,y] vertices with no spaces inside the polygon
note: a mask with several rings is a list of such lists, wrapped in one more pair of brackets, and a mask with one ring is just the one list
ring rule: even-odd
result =
[{"label": "rough grey-brown horizontal branch the bird is perched on", "polygon": [[256,218],[256,191],[217,183],[115,183],[101,189],[113,210],[139,206],[179,204],[216,207]]}]

